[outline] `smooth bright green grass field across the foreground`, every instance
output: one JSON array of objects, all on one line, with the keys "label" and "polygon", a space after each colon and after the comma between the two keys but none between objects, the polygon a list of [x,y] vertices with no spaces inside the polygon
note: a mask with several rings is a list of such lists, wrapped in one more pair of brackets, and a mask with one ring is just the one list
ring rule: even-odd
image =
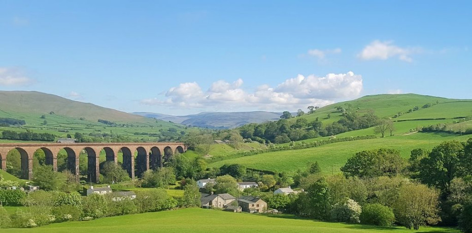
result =
[{"label": "smooth bright green grass field across the foreground", "polygon": [[377,227],[361,224],[320,222],[293,215],[231,213],[189,208],[126,215],[88,222],[55,223],[32,229],[3,229],[2,232],[459,232],[452,228]]}]

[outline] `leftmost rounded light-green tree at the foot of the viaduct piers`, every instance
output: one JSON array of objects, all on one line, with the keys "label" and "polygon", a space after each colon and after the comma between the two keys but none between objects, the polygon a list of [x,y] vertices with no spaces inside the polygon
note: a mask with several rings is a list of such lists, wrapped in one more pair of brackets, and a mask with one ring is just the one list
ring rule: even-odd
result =
[{"label": "leftmost rounded light-green tree at the foot of the viaduct piers", "polygon": [[42,165],[33,171],[33,182],[43,190],[59,190],[62,186],[60,174],[50,165]]}]

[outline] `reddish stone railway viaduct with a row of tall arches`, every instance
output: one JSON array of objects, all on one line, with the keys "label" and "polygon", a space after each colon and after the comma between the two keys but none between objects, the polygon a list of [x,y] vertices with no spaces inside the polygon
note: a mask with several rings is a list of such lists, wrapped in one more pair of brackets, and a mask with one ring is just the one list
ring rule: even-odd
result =
[{"label": "reddish stone railway viaduct with a row of tall arches", "polygon": [[2,143],[0,144],[0,166],[7,169],[7,154],[16,149],[21,155],[21,170],[24,179],[32,178],[33,154],[43,150],[46,164],[52,165],[57,171],[57,154],[61,149],[67,153],[67,168],[79,179],[79,155],[87,153],[88,177],[91,182],[98,182],[100,152],[105,151],[106,161],[118,163],[118,153],[123,153],[122,167],[134,179],[135,157],[137,175],[146,170],[162,167],[164,160],[175,152],[186,150],[184,143],[155,142],[155,143]]}]

